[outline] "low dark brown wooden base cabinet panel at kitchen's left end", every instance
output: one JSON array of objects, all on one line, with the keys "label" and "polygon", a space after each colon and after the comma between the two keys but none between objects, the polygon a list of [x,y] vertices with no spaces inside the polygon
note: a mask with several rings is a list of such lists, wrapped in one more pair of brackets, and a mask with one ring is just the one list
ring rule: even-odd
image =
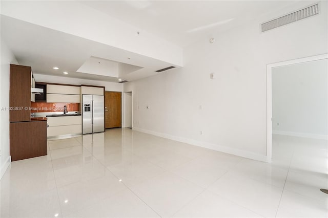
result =
[{"label": "low dark brown wooden base cabinet panel at kitchen's left end", "polygon": [[47,120],[10,123],[12,161],[47,155]]}]

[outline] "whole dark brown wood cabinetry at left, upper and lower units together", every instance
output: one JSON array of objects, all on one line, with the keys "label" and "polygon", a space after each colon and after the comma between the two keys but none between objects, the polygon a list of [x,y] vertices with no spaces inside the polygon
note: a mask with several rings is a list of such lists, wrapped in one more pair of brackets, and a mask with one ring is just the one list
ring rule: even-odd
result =
[{"label": "whole dark brown wood cabinetry at left, upper and lower units together", "polygon": [[47,155],[47,119],[31,121],[31,67],[10,64],[9,138],[12,161]]}]

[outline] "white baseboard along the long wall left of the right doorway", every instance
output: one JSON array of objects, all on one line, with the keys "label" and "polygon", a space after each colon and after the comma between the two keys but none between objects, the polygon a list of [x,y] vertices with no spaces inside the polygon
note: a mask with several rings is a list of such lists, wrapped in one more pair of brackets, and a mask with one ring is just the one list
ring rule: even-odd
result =
[{"label": "white baseboard along the long wall left of the right doorway", "polygon": [[269,161],[269,160],[267,160],[267,156],[259,155],[259,154],[256,154],[256,153],[250,152],[250,151],[244,151],[244,150],[240,150],[240,149],[236,149],[236,148],[230,148],[230,147],[221,146],[221,145],[217,145],[217,144],[212,144],[212,143],[208,143],[208,142],[201,142],[201,141],[197,141],[197,140],[193,140],[193,139],[188,139],[188,138],[183,138],[183,137],[178,137],[178,136],[172,136],[172,135],[169,135],[169,134],[158,133],[158,132],[154,132],[154,131],[147,130],[147,129],[142,129],[142,128],[137,128],[137,127],[132,127],[132,129],[136,130],[138,132],[147,133],[147,134],[150,134],[150,135],[159,136],[159,137],[162,137],[162,138],[171,139],[171,140],[174,140],[174,141],[183,142],[183,143],[187,143],[187,144],[191,144],[191,145],[196,145],[196,146],[199,146],[199,147],[209,148],[209,149],[212,149],[212,150],[221,151],[221,152],[224,152],[224,153],[240,156],[240,157],[243,157],[243,158],[249,158],[249,159],[252,159],[252,160],[263,161],[263,162],[268,162]]}]

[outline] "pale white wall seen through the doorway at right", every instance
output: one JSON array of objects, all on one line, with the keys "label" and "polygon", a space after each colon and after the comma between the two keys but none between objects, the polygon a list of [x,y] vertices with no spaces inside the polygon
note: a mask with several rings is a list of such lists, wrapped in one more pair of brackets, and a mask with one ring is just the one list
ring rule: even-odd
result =
[{"label": "pale white wall seen through the doorway at right", "polygon": [[272,70],[273,133],[327,138],[327,59]]}]

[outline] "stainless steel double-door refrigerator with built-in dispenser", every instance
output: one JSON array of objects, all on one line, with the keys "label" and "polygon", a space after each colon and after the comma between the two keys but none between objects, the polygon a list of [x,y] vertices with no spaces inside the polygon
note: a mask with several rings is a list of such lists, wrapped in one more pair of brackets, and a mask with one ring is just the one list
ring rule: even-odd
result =
[{"label": "stainless steel double-door refrigerator with built-in dispenser", "polygon": [[105,131],[104,96],[82,95],[82,134]]}]

